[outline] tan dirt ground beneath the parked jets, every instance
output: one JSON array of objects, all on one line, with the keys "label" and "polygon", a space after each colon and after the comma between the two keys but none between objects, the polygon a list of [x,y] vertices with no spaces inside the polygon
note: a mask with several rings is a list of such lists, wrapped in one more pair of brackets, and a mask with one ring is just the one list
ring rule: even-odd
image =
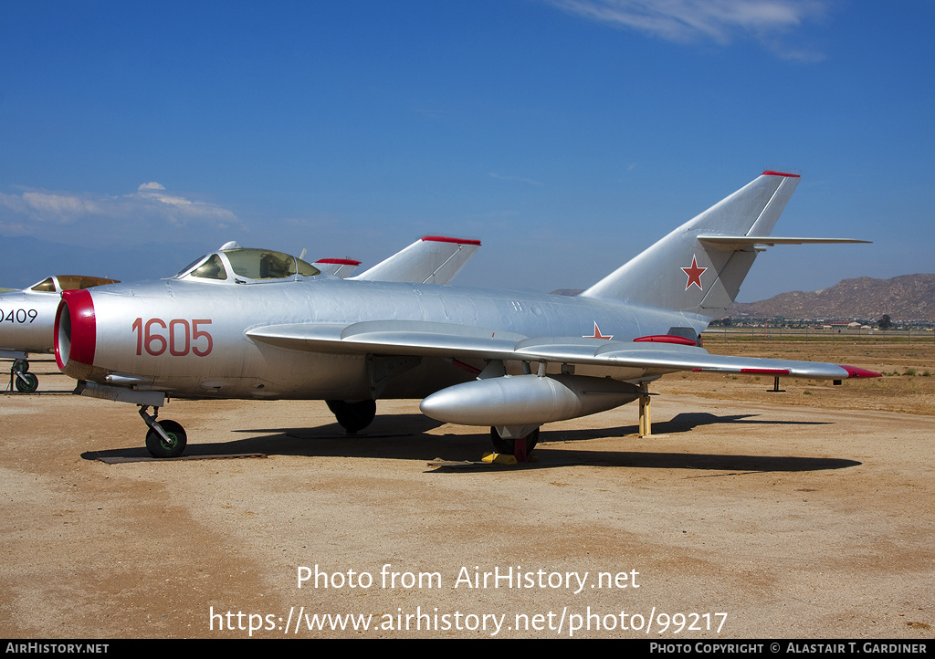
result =
[{"label": "tan dirt ground beneath the parked jets", "polygon": [[0,637],[933,638],[935,353],[788,343],[728,348],[899,375],[669,376],[654,437],[630,405],[464,469],[428,463],[487,433],[417,401],[365,437],[320,402],[173,401],[186,454],[266,457],[146,460],[134,406],[34,362],[0,396]]}]

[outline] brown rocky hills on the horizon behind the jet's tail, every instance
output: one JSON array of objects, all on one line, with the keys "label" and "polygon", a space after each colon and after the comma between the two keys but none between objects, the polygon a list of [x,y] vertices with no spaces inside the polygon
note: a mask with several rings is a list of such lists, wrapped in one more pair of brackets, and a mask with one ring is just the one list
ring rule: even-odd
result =
[{"label": "brown rocky hills on the horizon behind the jet's tail", "polygon": [[726,315],[876,321],[884,314],[894,321],[935,321],[935,275],[844,279],[823,291],[796,291],[760,302],[735,303]]}]

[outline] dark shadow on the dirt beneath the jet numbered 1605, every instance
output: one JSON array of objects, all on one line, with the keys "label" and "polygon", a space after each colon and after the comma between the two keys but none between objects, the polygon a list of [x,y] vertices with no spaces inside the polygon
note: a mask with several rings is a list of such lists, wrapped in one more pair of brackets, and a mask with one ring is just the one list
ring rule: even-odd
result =
[{"label": "dark shadow on the dirt beneath the jet numbered 1605", "polygon": [[[751,419],[755,415],[717,416],[695,412],[679,414],[669,422],[655,423],[657,435],[675,435],[712,423],[778,423],[823,425],[824,422],[785,422]],[[383,415],[366,433],[347,435],[337,423],[312,428],[252,428],[232,432],[249,434],[225,442],[190,443],[184,457],[235,457],[242,454],[304,455],[308,457],[383,458],[430,461],[440,458],[450,462],[476,462],[491,451],[489,433],[470,435],[428,435],[442,423],[421,414]],[[537,460],[521,468],[555,468],[568,465],[627,466],[642,468],[679,468],[727,471],[817,471],[857,466],[853,460],[797,456],[721,455],[708,453],[668,453],[627,451],[627,435],[634,435],[637,426],[617,428],[543,431]],[[620,437],[619,451],[588,451],[567,448],[568,442]],[[630,440],[633,437],[629,437]],[[645,441],[640,439],[640,441]],[[665,439],[660,438],[660,441]],[[561,442],[560,444],[558,442]],[[142,446],[109,451],[87,451],[86,460],[137,461],[150,459]],[[490,466],[502,470],[504,466]],[[484,469],[486,470],[486,469]]]}]

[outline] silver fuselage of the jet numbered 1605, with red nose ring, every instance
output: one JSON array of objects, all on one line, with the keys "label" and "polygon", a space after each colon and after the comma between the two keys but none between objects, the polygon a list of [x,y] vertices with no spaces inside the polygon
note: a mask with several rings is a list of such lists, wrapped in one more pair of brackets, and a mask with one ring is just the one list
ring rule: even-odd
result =
[{"label": "silver fuselage of the jet numbered 1605, with red nose ring", "polygon": [[[67,294],[76,321],[60,327],[57,351],[79,380],[133,386],[188,398],[416,397],[475,375],[451,359],[405,361],[356,352],[296,351],[254,340],[256,328],[303,324],[345,327],[367,321],[438,322],[489,329],[492,335],[632,340],[698,333],[693,314],[594,299],[486,291],[431,284],[314,278],[225,285],[166,279]],[[65,334],[63,334],[63,332]],[[400,361],[403,360],[403,361]],[[469,360],[466,360],[469,361]],[[471,364],[483,368],[483,361]],[[552,365],[550,372],[558,372]],[[521,372],[518,362],[508,372]],[[642,370],[578,366],[579,374],[639,377]]]}]

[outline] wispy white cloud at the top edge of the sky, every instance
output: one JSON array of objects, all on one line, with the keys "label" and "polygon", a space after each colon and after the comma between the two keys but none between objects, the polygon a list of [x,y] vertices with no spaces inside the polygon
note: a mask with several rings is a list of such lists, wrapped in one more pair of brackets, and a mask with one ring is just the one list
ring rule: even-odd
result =
[{"label": "wispy white cloud at the top edge of the sky", "polygon": [[[728,44],[754,36],[785,56],[775,35],[821,18],[822,0],[546,0],[554,7],[593,21],[626,27],[669,41],[711,40]],[[805,59],[797,50],[790,59]],[[815,53],[808,54],[814,59]]]}]

